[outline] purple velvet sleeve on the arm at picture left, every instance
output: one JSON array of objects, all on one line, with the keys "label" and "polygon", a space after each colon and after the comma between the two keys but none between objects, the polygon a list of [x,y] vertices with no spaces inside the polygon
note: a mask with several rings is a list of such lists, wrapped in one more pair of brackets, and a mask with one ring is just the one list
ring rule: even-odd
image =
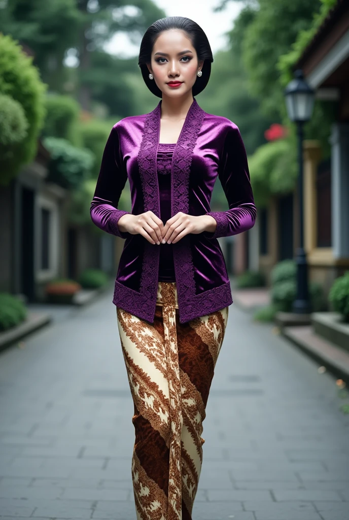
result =
[{"label": "purple velvet sleeve on the arm at picture left", "polygon": [[117,205],[126,181],[127,172],[120,156],[119,136],[116,126],[113,126],[104,148],[90,214],[97,227],[125,239],[132,235],[128,231],[120,231],[117,223],[120,217],[130,212],[118,210]]}]

